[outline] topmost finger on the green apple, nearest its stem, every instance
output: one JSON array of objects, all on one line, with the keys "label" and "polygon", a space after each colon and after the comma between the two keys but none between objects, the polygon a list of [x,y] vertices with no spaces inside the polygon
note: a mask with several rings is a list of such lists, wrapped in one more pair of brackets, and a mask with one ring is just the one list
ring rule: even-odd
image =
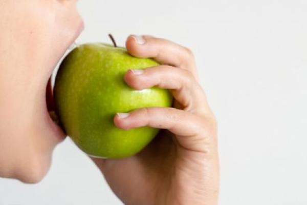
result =
[{"label": "topmost finger on the green apple, nearest its stem", "polygon": [[130,35],[126,41],[126,48],[136,57],[150,57],[161,64],[189,70],[195,79],[198,79],[193,54],[183,46],[148,35]]}]

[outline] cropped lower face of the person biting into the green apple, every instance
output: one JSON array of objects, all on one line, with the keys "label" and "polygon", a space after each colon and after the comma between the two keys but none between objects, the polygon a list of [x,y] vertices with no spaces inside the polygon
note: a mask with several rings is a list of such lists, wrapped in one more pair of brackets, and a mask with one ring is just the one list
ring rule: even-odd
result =
[{"label": "cropped lower face of the person biting into the green apple", "polygon": [[76,0],[0,0],[0,177],[37,182],[64,138],[46,85],[83,29]]}]

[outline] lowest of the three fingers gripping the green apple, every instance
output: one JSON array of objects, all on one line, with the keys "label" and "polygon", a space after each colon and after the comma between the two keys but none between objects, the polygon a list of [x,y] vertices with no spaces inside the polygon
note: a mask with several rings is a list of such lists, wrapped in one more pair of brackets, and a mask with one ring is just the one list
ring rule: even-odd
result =
[{"label": "lowest of the three fingers gripping the green apple", "polygon": [[118,113],[114,117],[114,124],[124,130],[144,126],[167,129],[176,135],[183,148],[190,151],[208,153],[212,142],[215,142],[213,119],[174,108],[150,107]]}]

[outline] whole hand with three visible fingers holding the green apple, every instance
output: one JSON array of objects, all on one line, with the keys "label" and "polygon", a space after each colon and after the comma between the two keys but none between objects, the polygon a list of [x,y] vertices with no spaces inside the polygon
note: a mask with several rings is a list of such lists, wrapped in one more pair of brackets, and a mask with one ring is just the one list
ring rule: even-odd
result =
[{"label": "whole hand with three visible fingers holding the green apple", "polygon": [[129,36],[126,47],[131,55],[162,64],[141,74],[128,71],[126,83],[137,90],[171,90],[174,108],[142,108],[125,118],[117,114],[119,128],[164,130],[133,157],[93,160],[125,204],[217,204],[216,121],[198,83],[192,52],[152,36]]}]

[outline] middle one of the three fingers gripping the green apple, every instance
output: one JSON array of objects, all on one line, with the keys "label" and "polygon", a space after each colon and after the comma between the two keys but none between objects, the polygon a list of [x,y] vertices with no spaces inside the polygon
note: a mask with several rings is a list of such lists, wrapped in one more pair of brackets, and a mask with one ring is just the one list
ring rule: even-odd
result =
[{"label": "middle one of the three fingers gripping the green apple", "polygon": [[207,108],[202,88],[187,70],[162,65],[142,70],[129,70],[124,79],[136,90],[155,86],[171,90],[174,98],[186,111],[202,113]]}]

